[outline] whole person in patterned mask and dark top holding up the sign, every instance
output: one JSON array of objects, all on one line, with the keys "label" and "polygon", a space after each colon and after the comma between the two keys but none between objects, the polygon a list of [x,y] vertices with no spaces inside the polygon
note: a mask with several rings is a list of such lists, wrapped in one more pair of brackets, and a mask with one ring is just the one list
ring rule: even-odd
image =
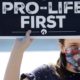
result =
[{"label": "whole person in patterned mask and dark top holding up the sign", "polygon": [[24,51],[33,41],[30,34],[29,30],[23,39],[16,39],[4,80],[80,80],[80,39],[59,39],[61,51],[56,65],[43,65],[20,76]]}]

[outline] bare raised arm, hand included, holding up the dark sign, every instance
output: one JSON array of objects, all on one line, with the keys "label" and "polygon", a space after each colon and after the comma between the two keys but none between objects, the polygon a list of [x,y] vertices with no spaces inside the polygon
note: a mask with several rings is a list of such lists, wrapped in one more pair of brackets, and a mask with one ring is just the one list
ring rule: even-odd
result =
[{"label": "bare raised arm, hand included, holding up the dark sign", "polygon": [[16,39],[4,75],[4,80],[19,80],[20,66],[21,66],[23,53],[25,49],[28,48],[28,46],[32,42],[32,39],[30,39],[30,33],[31,31],[28,31],[24,39]]}]

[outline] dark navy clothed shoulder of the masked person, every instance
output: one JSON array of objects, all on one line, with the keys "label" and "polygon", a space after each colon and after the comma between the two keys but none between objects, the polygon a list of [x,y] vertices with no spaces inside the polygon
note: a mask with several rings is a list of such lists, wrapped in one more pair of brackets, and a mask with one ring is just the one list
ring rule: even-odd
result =
[{"label": "dark navy clothed shoulder of the masked person", "polygon": [[52,65],[44,64],[38,68],[36,68],[31,73],[22,74],[21,80],[23,79],[29,80],[59,80],[58,76],[56,75],[56,68]]}]

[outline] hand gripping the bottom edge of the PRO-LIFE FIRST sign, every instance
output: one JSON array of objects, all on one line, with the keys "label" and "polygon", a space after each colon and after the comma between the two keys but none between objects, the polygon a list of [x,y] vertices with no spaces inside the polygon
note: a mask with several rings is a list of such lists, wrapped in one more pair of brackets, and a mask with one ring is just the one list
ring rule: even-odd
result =
[{"label": "hand gripping the bottom edge of the PRO-LIFE FIRST sign", "polygon": [[24,38],[17,38],[15,41],[15,45],[13,50],[24,52],[26,48],[31,44],[32,39],[30,38],[31,30],[26,32],[26,36]]}]

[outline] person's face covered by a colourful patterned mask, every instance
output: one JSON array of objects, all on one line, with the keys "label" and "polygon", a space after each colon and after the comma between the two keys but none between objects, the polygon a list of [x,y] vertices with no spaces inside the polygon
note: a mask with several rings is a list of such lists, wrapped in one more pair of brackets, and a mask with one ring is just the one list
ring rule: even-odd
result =
[{"label": "person's face covered by a colourful patterned mask", "polygon": [[62,53],[66,56],[67,64],[75,72],[80,73],[80,39],[65,39],[61,47]]}]

